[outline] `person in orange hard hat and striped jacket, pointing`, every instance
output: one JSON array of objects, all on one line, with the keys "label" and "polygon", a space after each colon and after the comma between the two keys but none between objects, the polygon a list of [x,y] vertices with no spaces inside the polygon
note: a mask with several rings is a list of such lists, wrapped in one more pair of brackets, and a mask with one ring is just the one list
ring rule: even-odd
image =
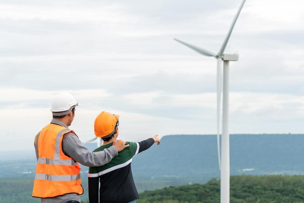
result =
[{"label": "person in orange hard hat and striped jacket, pointing", "polygon": [[[118,137],[118,115],[102,111],[94,123],[95,135],[101,137],[103,145],[94,152],[109,149]],[[160,140],[154,135],[141,142],[127,142],[130,145],[118,153],[112,161],[101,167],[90,167],[88,174],[90,203],[135,203],[138,193],[133,180],[131,162],[134,155],[149,149]],[[100,182],[100,188],[99,188]]]}]

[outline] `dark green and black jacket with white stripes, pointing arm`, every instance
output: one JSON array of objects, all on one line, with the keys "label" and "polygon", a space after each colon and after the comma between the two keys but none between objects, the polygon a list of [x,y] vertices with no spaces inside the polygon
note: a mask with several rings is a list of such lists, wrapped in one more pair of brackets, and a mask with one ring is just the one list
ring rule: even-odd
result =
[{"label": "dark green and black jacket with white stripes, pointing arm", "polygon": [[[138,199],[131,170],[132,159],[137,153],[149,149],[153,143],[153,138],[138,143],[127,142],[130,147],[118,152],[118,156],[108,164],[90,167],[88,173],[90,203],[128,203]],[[112,144],[103,145],[94,152],[109,148]]]}]

